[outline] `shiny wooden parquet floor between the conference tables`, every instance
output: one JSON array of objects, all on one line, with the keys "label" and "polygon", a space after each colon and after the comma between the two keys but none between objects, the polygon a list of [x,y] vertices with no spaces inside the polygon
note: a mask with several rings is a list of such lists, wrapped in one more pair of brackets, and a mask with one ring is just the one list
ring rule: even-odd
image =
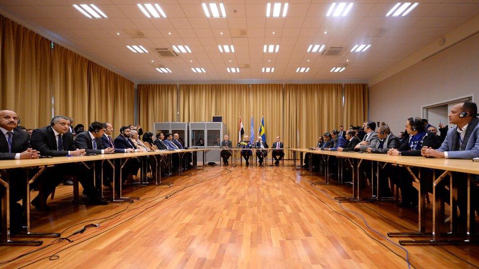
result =
[{"label": "shiny wooden parquet floor between the conference tables", "polygon": [[[398,238],[387,240],[387,232],[416,228],[417,208],[384,202],[343,209],[331,197],[350,187],[311,186],[312,179],[293,166],[206,167],[166,178],[171,187],[129,187],[125,196],[141,200],[106,206],[73,205],[72,187],[60,186],[51,212],[32,209],[32,231],[63,232],[72,242],[0,246],[1,266],[407,268],[405,250],[411,268],[473,268],[452,254],[479,265],[479,246],[404,250]],[[100,226],[70,236],[90,223]]]}]

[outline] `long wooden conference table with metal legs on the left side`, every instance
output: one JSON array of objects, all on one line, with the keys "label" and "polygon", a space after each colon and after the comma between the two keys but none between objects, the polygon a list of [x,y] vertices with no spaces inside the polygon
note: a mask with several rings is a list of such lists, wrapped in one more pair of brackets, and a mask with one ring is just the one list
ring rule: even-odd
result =
[{"label": "long wooden conference table with metal legs on the left side", "polygon": [[[39,236],[39,237],[59,237],[58,233],[33,233],[30,232],[30,184],[33,183],[48,167],[55,165],[68,164],[68,163],[79,163],[85,166],[85,169],[96,170],[96,166],[101,165],[101,181],[104,182],[104,173],[103,173],[103,164],[106,162],[112,168],[112,181],[115,182],[115,177],[121,178],[122,168],[125,164],[133,158],[139,160],[140,163],[140,182],[139,185],[170,185],[169,183],[161,182],[161,160],[165,157],[169,158],[167,165],[171,171],[171,156],[173,154],[179,154],[180,164],[179,164],[179,173],[182,174],[182,157],[187,152],[191,152],[193,169],[196,169],[196,154],[198,151],[203,149],[182,149],[182,150],[157,150],[150,152],[135,152],[135,153],[115,153],[115,154],[100,154],[93,156],[76,156],[76,157],[54,157],[54,158],[41,158],[41,159],[31,159],[31,160],[2,160],[0,161],[0,184],[3,186],[3,195],[2,195],[2,207],[1,207],[1,245],[42,245],[42,241],[14,241],[10,239],[10,187],[5,179],[5,173],[9,169],[27,169],[27,178],[12,178],[11,180],[26,180],[26,196],[23,199],[23,208],[26,216],[26,223],[24,226],[24,231],[18,236],[29,237],[29,236]],[[147,159],[149,157],[154,157],[156,162],[156,171],[153,171],[153,176],[155,180],[153,182],[148,182],[147,180]],[[30,176],[29,169],[37,168],[35,174]],[[116,169],[119,172],[116,172]],[[93,182],[96,183],[96,172],[93,173]],[[118,194],[116,197],[115,185],[112,184],[111,197],[110,201],[112,202],[133,202],[133,200],[138,200],[138,197],[123,197],[122,196],[122,184],[120,182]],[[74,185],[74,201],[78,200],[78,182]],[[103,188],[102,188],[102,197],[103,197]]]}]

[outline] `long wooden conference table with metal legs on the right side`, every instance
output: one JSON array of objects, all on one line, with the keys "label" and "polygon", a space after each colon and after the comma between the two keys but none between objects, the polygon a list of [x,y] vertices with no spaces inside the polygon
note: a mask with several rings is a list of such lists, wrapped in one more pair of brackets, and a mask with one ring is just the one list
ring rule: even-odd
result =
[{"label": "long wooden conference table with metal legs on the right side", "polygon": [[[473,162],[472,160],[457,160],[457,159],[436,159],[436,158],[425,158],[425,157],[412,157],[412,156],[390,156],[387,154],[377,154],[377,153],[358,153],[358,152],[338,152],[338,151],[326,151],[326,150],[310,150],[310,149],[301,149],[301,148],[291,148],[294,155],[294,165],[296,162],[296,153],[300,154],[301,165],[303,163],[303,154],[310,153],[309,158],[312,154],[319,154],[323,159],[326,160],[324,165],[325,181],[323,184],[330,184],[329,181],[329,170],[328,170],[328,160],[330,156],[337,158],[344,158],[350,164],[353,173],[352,173],[352,183],[353,183],[353,194],[350,197],[336,197],[340,202],[346,201],[362,201],[362,202],[371,202],[371,201],[381,201],[381,196],[379,192],[379,186],[376,184],[376,196],[363,198],[361,196],[361,187],[359,184],[359,169],[363,161],[372,161],[377,162],[376,165],[376,178],[379,178],[379,167],[380,164],[389,164],[393,166],[402,166],[409,171],[413,179],[417,182],[421,181],[421,169],[431,169],[433,171],[433,219],[432,219],[432,232],[426,233],[426,196],[428,196],[427,190],[421,188],[419,184],[419,218],[418,218],[418,231],[414,233],[388,233],[390,237],[428,237],[431,239],[428,240],[401,240],[399,243],[401,245],[434,245],[434,244],[468,244],[472,242],[477,242],[474,235],[474,225],[475,225],[475,209],[471,206],[471,184],[472,176],[479,175],[479,163]],[[311,159],[309,160],[309,170],[312,175],[312,163]],[[356,164],[356,165],[354,165]],[[372,166],[373,167],[373,166]],[[410,168],[418,168],[417,173],[414,173]],[[355,172],[354,172],[355,170]],[[439,171],[439,173],[437,173]],[[458,233],[457,231],[457,182],[456,178],[452,176],[452,172],[459,172],[467,174],[467,224],[465,234]],[[441,222],[444,220],[444,201],[441,200],[439,195],[439,188],[444,188],[444,183],[442,182],[446,176],[450,177],[449,189],[450,189],[450,205],[451,205],[451,220],[450,220],[450,231],[446,233],[441,233]],[[373,171],[371,181],[373,182]],[[372,183],[372,188],[374,185]],[[373,193],[373,192],[372,192]]]}]

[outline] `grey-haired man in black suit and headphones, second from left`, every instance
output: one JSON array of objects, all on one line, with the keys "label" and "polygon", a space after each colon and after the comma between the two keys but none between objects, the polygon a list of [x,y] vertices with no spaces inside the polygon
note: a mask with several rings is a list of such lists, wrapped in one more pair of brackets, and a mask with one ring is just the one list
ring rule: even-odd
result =
[{"label": "grey-haired man in black suit and headphones, second from left", "polygon": [[[85,149],[79,149],[75,146],[69,127],[70,119],[68,117],[56,116],[50,122],[50,126],[33,130],[30,139],[31,146],[44,156],[84,156],[86,154]],[[31,204],[37,209],[46,209],[48,196],[66,175],[73,175],[78,178],[83,186],[83,194],[88,196],[90,204],[107,204],[107,201],[102,199],[95,189],[91,174],[85,170],[81,163],[60,164],[44,171],[38,179],[42,186],[40,193],[31,201]],[[42,197],[42,199],[39,197]]]}]

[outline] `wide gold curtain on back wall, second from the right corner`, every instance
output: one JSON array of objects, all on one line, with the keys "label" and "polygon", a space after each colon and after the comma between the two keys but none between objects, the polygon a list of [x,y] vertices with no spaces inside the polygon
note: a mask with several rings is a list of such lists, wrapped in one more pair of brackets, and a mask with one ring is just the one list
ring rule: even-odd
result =
[{"label": "wide gold curtain on back wall, second from the right corner", "polygon": [[341,84],[285,85],[285,147],[313,147],[324,132],[338,128],[342,98]]}]

